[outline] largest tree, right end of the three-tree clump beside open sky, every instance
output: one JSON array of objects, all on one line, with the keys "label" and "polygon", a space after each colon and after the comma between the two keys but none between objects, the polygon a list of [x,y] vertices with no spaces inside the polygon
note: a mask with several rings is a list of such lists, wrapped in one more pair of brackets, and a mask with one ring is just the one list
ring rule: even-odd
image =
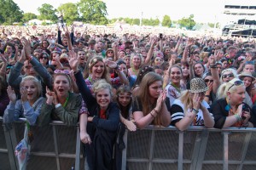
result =
[{"label": "largest tree, right end of the three-tree clump beside open sky", "polygon": [[100,0],[80,0],[78,8],[82,21],[94,25],[108,24],[106,3]]}]

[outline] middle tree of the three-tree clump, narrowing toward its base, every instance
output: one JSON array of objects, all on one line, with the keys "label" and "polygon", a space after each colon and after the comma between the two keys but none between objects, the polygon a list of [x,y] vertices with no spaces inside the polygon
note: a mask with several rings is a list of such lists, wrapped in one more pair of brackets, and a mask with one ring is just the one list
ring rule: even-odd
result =
[{"label": "middle tree of the three-tree clump, narrowing toward its base", "polygon": [[63,16],[63,20],[67,25],[71,25],[73,21],[79,20],[79,11],[75,3],[64,3],[59,8],[58,11]]}]

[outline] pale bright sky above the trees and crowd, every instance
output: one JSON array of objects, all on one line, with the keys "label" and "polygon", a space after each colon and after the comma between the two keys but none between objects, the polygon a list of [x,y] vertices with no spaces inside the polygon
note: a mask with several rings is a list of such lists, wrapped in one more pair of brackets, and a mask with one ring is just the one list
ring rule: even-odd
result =
[{"label": "pale bright sky above the trees and crowd", "polygon": [[[57,8],[61,3],[76,3],[79,0],[14,0],[21,10],[38,14],[37,8],[43,3],[49,3]],[[103,0],[107,4],[108,19],[118,17],[140,18],[159,18],[167,14],[171,20],[179,20],[188,17],[189,14],[195,15],[195,21],[214,22],[219,20],[219,14],[224,9],[224,0]]]}]

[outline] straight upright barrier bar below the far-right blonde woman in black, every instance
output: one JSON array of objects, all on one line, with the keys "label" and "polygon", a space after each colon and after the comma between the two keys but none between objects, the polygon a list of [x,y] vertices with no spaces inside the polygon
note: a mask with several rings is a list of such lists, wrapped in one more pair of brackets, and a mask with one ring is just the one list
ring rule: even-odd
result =
[{"label": "straight upright barrier bar below the far-right blonde woman in black", "polygon": [[229,133],[223,133],[223,170],[229,169]]}]

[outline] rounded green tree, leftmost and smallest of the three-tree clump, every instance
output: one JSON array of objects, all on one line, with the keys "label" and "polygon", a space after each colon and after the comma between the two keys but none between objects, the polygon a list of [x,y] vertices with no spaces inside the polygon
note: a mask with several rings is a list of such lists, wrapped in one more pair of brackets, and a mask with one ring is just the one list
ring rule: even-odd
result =
[{"label": "rounded green tree, leftmost and smallest of the three-tree clump", "polygon": [[44,3],[41,8],[39,7],[38,12],[40,13],[40,15],[38,16],[39,20],[58,20],[58,17],[55,14],[57,10],[49,3]]}]

